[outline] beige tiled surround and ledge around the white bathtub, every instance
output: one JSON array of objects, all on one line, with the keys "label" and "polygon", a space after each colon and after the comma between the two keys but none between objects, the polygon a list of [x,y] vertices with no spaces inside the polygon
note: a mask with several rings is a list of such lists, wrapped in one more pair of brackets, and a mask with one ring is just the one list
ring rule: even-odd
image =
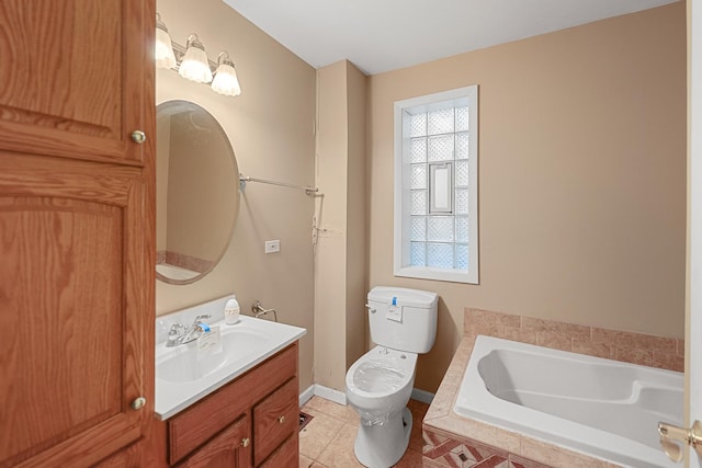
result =
[{"label": "beige tiled surround and ledge around the white bathtub", "polygon": [[464,338],[423,421],[423,466],[461,468],[613,468],[545,442],[453,412],[478,334],[681,372],[681,340],[629,333],[479,309],[466,309]]}]

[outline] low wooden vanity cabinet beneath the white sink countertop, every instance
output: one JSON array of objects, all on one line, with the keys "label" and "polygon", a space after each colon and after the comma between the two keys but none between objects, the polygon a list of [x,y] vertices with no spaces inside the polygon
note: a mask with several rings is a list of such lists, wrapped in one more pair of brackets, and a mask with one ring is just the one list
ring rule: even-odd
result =
[{"label": "low wooden vanity cabinet beneath the white sink countertop", "polygon": [[296,466],[297,350],[295,342],[161,423],[167,465]]}]

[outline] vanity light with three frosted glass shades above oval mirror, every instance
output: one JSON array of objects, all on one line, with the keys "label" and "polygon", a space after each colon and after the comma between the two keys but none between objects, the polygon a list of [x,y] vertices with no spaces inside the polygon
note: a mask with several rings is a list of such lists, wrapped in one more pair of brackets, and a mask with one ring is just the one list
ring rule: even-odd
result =
[{"label": "vanity light with three frosted glass shades above oval mirror", "polygon": [[173,42],[159,13],[156,13],[155,58],[159,68],[176,70],[181,77],[199,83],[212,82],[212,90],[216,93],[230,96],[241,94],[237,71],[226,50],[219,54],[215,64],[207,58],[197,34],[188,37],[185,47]]}]

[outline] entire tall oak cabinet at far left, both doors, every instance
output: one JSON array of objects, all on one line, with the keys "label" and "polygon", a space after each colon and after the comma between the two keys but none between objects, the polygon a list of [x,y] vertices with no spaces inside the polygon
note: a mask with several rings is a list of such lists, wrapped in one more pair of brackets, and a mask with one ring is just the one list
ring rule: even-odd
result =
[{"label": "entire tall oak cabinet at far left, both doors", "polygon": [[0,8],[0,467],[144,466],[155,15],[155,0]]}]

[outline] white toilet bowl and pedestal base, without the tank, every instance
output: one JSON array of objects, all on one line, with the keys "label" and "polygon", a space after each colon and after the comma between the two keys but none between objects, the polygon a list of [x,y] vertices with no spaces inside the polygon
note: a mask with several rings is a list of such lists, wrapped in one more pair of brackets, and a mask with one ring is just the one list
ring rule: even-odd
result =
[{"label": "white toilet bowl and pedestal base, without the tank", "polygon": [[347,373],[347,400],[361,416],[353,450],[366,467],[390,467],[407,449],[416,364],[417,354],[378,345]]}]

